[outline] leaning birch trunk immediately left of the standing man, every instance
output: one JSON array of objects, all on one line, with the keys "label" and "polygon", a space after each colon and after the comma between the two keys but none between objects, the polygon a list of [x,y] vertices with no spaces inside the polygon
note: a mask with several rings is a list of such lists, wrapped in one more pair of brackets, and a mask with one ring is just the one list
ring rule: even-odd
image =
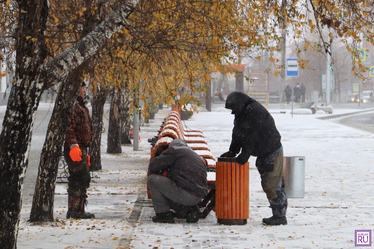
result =
[{"label": "leaning birch trunk immediately left of the standing man", "polygon": [[87,63],[71,72],[60,84],[58,95],[49,120],[46,140],[40,155],[39,172],[36,180],[30,221],[53,221],[58,165],[62,155],[65,133],[70,123],[71,113],[82,82],[82,74]]}]

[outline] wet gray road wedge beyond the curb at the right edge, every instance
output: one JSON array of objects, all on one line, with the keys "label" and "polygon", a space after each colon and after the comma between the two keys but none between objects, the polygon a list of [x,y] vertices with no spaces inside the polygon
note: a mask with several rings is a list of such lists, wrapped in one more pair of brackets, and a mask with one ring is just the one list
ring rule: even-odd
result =
[{"label": "wet gray road wedge beyond the curb at the right edge", "polygon": [[338,122],[349,127],[374,133],[374,112],[343,117]]}]

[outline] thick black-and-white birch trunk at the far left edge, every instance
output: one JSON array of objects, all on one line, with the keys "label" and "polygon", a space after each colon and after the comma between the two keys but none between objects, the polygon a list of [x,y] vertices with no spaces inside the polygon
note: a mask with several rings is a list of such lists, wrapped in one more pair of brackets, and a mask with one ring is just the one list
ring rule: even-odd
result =
[{"label": "thick black-and-white birch trunk at the far left edge", "polygon": [[[46,58],[47,1],[19,1],[18,7],[15,83],[10,90],[0,135],[0,248],[16,248],[31,136],[43,91],[37,68]],[[26,39],[28,34],[37,34],[38,40]]]}]

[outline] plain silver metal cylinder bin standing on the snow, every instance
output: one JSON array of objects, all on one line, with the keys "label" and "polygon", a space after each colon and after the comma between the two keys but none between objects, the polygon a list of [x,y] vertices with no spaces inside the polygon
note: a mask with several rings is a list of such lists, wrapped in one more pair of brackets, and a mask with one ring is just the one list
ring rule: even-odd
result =
[{"label": "plain silver metal cylinder bin standing on the snow", "polygon": [[285,192],[289,198],[304,198],[305,157],[283,157]]}]

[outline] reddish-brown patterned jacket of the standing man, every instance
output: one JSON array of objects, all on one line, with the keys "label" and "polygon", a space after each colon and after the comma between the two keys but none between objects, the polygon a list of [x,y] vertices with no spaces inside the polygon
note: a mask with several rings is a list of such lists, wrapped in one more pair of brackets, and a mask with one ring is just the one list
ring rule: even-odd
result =
[{"label": "reddish-brown patterned jacket of the standing man", "polygon": [[65,134],[65,142],[68,143],[69,147],[73,144],[89,147],[92,136],[93,126],[90,112],[83,99],[78,99],[71,114],[70,123]]}]

